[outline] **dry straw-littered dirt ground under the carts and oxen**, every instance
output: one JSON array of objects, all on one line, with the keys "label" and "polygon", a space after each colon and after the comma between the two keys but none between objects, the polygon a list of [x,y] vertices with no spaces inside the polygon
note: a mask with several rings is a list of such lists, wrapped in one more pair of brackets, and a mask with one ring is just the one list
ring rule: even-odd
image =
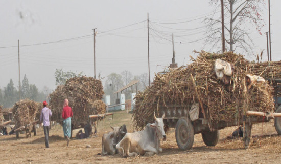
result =
[{"label": "dry straw-littered dirt ground under the carts and oxen", "polygon": [[[153,156],[121,158],[119,155],[100,156],[101,137],[111,126],[126,124],[132,132],[132,114],[115,112],[113,119],[107,116],[98,124],[98,137],[72,139],[69,147],[63,138],[60,125],[52,126],[50,148],[45,148],[43,128],[37,129],[37,136],[26,138],[20,134],[0,136],[0,163],[281,163],[281,136],[277,135],[273,123],[255,124],[249,149],[244,149],[241,140],[229,140],[236,127],[220,131],[220,141],[215,147],[206,147],[201,134],[195,135],[193,148],[188,151],[178,149],[175,130],[171,128],[167,140],[161,142],[163,152]],[[10,128],[9,128],[10,131]],[[76,134],[79,129],[74,130]],[[83,130],[84,131],[84,130]],[[90,145],[91,148],[86,148]]]}]

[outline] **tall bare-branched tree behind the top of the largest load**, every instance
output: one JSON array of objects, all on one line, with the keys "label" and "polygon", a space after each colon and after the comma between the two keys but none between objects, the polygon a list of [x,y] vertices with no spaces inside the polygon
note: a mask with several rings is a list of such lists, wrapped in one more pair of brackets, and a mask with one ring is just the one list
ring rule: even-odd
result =
[{"label": "tall bare-branched tree behind the top of the largest load", "polygon": [[[206,44],[221,51],[221,0],[210,0],[215,6],[212,17],[206,18],[208,25]],[[264,0],[224,0],[224,29],[226,51],[238,51],[253,54],[253,40],[250,38],[251,28],[261,33],[264,20],[261,18]]]}]

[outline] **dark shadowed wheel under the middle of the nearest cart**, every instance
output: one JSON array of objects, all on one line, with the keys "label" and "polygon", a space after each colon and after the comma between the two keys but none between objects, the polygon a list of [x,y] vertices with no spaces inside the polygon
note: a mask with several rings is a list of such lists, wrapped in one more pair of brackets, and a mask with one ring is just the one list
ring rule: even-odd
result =
[{"label": "dark shadowed wheel under the middle of the nearest cart", "polygon": [[206,146],[214,147],[218,144],[220,138],[220,131],[215,130],[213,132],[202,132],[202,139]]}]

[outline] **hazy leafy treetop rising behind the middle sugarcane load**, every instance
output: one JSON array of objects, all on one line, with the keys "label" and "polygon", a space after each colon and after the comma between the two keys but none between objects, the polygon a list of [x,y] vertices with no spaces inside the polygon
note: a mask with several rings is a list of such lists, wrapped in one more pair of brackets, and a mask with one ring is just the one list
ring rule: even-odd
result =
[{"label": "hazy leafy treetop rising behind the middle sugarcane load", "polygon": [[72,77],[81,77],[83,74],[83,71],[82,72],[79,72],[78,74],[75,72],[71,72],[71,71],[68,71],[68,72],[64,72],[62,71],[62,68],[61,69],[56,69],[56,72],[55,72],[55,77],[56,77],[56,85],[64,85],[65,82],[69,79],[69,78],[72,78]]}]

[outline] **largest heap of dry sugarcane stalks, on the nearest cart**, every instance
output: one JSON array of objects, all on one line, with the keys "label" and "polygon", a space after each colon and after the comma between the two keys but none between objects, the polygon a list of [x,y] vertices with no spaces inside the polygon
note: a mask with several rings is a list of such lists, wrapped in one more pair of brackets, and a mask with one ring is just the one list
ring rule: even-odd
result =
[{"label": "largest heap of dry sugarcane stalks, on the nearest cart", "polygon": [[[237,121],[246,111],[274,111],[273,88],[267,82],[247,88],[245,77],[253,72],[243,55],[227,52],[224,54],[197,52],[193,63],[170,70],[165,74],[155,74],[154,81],[145,91],[135,96],[133,124],[142,129],[153,121],[153,112],[162,113],[162,106],[198,103],[204,106],[210,128],[219,121]],[[217,78],[214,64],[222,59],[235,66],[230,84],[223,84]],[[261,72],[263,70],[260,70]],[[280,70],[273,70],[273,74]],[[256,74],[255,75],[260,75]],[[244,93],[244,94],[243,94]]]}]

